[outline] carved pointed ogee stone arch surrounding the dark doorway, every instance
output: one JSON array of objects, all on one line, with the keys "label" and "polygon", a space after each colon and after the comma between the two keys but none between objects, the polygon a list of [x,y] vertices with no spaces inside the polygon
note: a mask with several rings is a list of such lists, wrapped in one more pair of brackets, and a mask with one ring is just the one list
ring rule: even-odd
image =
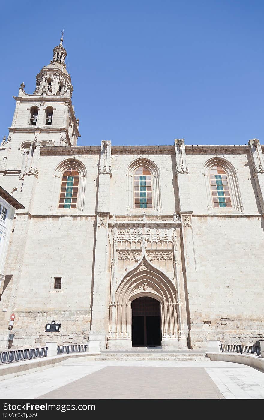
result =
[{"label": "carved pointed ogee stone arch surrounding the dark doorway", "polygon": [[155,299],[160,304],[162,347],[177,348],[180,331],[183,329],[177,295],[176,287],[170,278],[149,262],[143,250],[141,260],[125,274],[115,292],[115,301],[110,304],[107,348],[132,348],[131,303],[143,297]]}]

